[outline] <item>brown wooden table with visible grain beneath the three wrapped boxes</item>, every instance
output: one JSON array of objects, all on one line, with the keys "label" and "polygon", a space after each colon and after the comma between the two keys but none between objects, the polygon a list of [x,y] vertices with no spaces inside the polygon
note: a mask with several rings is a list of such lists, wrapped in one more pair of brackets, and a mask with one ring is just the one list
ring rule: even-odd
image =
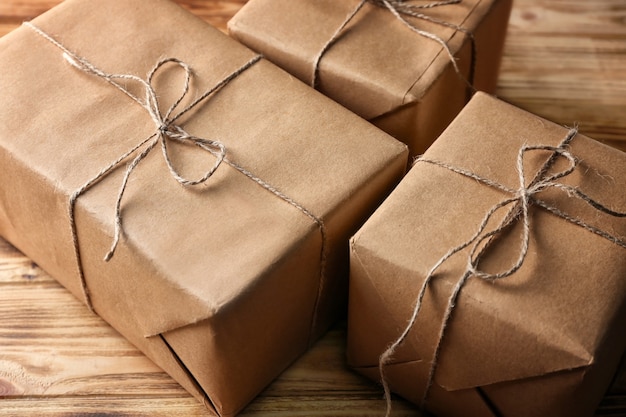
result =
[{"label": "brown wooden table with visible grain beneath the three wrapped boxes", "polygon": [[[0,0],[0,35],[59,0]],[[245,0],[179,0],[225,29]],[[498,94],[626,150],[626,2],[515,0]],[[0,416],[207,416],[150,360],[0,238]],[[339,324],[243,416],[380,416]],[[394,400],[394,416],[419,416]],[[598,416],[626,416],[626,369]]]}]

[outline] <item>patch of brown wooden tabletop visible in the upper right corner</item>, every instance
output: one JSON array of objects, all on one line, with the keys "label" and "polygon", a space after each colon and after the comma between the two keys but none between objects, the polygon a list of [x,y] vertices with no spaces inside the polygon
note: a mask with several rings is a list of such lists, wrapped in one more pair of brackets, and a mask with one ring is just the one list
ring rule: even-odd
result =
[{"label": "patch of brown wooden tabletop visible in the upper right corner", "polygon": [[626,150],[626,2],[515,0],[498,95]]}]

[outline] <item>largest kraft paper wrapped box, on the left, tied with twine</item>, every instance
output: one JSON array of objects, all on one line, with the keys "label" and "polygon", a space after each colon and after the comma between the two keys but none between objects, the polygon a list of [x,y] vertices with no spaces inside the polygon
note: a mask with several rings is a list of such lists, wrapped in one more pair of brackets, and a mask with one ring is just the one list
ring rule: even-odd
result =
[{"label": "largest kraft paper wrapped box, on the left, tied with twine", "polygon": [[348,238],[406,169],[404,144],[165,0],[23,25],[0,97],[0,234],[220,416],[345,309]]}]

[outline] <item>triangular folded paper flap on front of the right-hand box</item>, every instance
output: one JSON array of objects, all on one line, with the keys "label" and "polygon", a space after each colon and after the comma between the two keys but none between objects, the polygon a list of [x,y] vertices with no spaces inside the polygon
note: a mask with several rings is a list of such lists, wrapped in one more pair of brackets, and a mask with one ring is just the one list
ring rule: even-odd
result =
[{"label": "triangular folded paper flap on front of the right-hand box", "polygon": [[[585,341],[576,340],[578,335],[532,320],[510,323],[507,316],[515,312],[494,311],[487,303],[472,300],[472,290],[468,284],[465,292],[470,295],[459,302],[450,323],[435,376],[439,386],[451,391],[476,388],[593,364],[594,352],[588,351]],[[474,308],[465,320],[462,310],[468,304]]]}]

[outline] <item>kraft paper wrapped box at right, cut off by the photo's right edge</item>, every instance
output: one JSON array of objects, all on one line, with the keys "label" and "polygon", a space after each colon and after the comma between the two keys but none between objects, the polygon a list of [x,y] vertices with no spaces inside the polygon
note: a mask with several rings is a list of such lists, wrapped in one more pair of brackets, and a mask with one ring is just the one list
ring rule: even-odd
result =
[{"label": "kraft paper wrapped box at right, cut off by the photo's right edge", "polygon": [[592,416],[626,346],[625,189],[623,152],[478,93],[352,238],[350,365],[438,417]]}]

